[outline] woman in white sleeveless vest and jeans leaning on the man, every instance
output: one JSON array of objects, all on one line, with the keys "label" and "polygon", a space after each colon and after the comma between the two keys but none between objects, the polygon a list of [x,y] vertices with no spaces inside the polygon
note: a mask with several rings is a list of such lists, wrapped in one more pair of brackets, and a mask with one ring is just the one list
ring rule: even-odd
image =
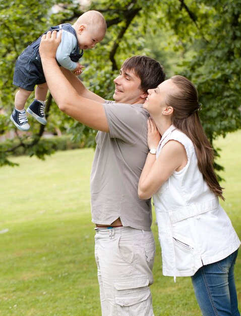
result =
[{"label": "woman in white sleeveless vest and jeans leaning on the man", "polygon": [[200,107],[197,89],[182,76],[148,90],[150,152],[138,194],[153,195],[163,274],[191,276],[203,315],[239,316],[234,263],[240,241],[219,204],[224,198]]}]

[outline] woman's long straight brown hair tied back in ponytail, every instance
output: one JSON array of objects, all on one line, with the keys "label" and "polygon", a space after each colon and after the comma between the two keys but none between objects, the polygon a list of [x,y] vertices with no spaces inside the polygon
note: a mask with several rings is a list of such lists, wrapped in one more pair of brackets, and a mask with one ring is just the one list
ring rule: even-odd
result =
[{"label": "woman's long straight brown hair tied back in ponytail", "polygon": [[193,142],[198,159],[198,168],[210,189],[224,200],[213,168],[214,152],[202,127],[198,109],[198,91],[194,84],[183,76],[170,78],[176,85],[174,93],[169,93],[166,105],[173,108],[172,124],[185,133]]}]

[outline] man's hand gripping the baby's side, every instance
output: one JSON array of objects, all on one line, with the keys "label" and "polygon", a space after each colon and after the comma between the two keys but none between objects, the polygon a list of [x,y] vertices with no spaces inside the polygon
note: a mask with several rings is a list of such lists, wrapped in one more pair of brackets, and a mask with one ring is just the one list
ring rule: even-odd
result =
[{"label": "man's hand gripping the baby's side", "polygon": [[43,34],[39,45],[39,54],[41,59],[55,59],[58,45],[61,42],[62,31],[59,31],[58,33],[58,36],[57,31],[48,31],[47,34]]}]

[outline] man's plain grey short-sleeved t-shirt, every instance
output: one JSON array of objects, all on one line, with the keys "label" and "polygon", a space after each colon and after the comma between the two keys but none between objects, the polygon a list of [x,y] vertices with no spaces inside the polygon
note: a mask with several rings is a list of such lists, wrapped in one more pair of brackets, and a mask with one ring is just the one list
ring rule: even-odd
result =
[{"label": "man's plain grey short-sleeved t-shirt", "polygon": [[138,197],[138,182],[148,153],[148,113],[142,104],[105,101],[109,133],[98,132],[91,172],[92,222],[151,230],[151,200]]}]

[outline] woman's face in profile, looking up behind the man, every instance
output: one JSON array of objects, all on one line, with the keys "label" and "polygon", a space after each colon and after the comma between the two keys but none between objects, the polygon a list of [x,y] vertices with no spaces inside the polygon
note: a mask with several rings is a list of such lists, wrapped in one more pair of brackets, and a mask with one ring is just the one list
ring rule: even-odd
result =
[{"label": "woman's face in profile, looking up behind the man", "polygon": [[174,89],[175,85],[171,79],[163,81],[156,89],[149,89],[143,108],[151,115],[161,115],[163,109],[166,107],[166,97]]}]

